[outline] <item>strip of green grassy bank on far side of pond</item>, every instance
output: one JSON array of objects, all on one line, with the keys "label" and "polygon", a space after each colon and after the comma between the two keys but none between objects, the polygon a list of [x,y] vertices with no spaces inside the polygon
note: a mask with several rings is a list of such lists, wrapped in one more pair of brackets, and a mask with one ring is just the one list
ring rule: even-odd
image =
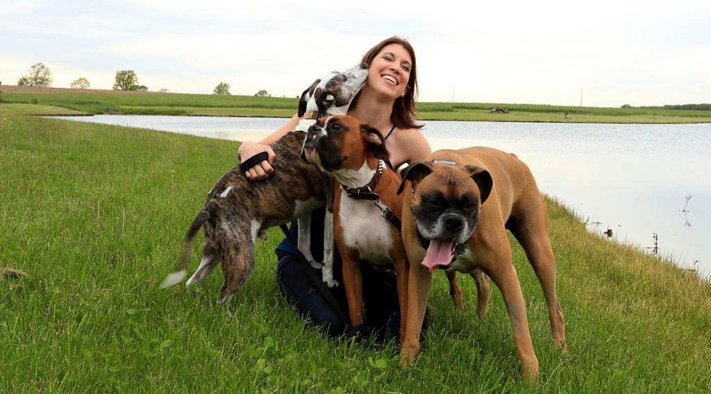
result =
[{"label": "strip of green grassy bank on far side of pond", "polygon": [[[24,109],[32,114],[141,114],[183,116],[269,116],[291,117],[296,97],[218,96],[215,94],[174,94],[41,89],[23,92],[19,87],[0,94],[0,110]],[[9,89],[9,87],[4,87]],[[36,104],[32,104],[36,103]],[[10,105],[9,105],[10,104]],[[20,106],[21,107],[18,107]],[[33,106],[36,106],[33,108]],[[41,106],[41,108],[39,108]],[[508,114],[492,114],[502,107]],[[534,121],[567,123],[710,123],[711,111],[648,108],[599,108],[501,103],[419,102],[423,121]]]}]

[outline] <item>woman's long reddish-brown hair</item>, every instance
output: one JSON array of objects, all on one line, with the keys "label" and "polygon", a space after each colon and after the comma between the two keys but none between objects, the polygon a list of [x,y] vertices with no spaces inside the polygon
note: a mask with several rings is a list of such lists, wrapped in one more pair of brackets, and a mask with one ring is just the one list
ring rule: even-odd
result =
[{"label": "woman's long reddish-brown hair", "polygon": [[[390,121],[392,121],[392,123],[399,128],[422,128],[424,125],[416,124],[414,119],[415,112],[417,111],[418,93],[417,61],[415,60],[415,48],[412,48],[410,41],[397,36],[385,38],[385,40],[380,41],[378,45],[370,48],[370,50],[363,55],[363,59],[360,60],[360,62],[363,62],[370,67],[370,63],[373,62],[375,56],[377,56],[383,48],[390,44],[402,45],[402,48],[405,48],[405,50],[410,53],[410,57],[412,58],[412,70],[410,70],[410,80],[407,81],[405,96],[397,97],[397,99],[395,99],[395,103],[392,104]],[[355,99],[353,99],[351,106],[355,106],[356,102],[358,102],[358,97],[360,97],[360,93],[355,97]]]}]

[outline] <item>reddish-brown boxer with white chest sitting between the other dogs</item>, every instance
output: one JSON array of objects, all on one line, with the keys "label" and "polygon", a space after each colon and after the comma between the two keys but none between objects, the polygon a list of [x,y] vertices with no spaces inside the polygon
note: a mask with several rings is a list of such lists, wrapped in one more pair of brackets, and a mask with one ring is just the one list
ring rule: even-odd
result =
[{"label": "reddish-brown boxer with white chest sitting between the other dogs", "polygon": [[[331,173],[340,184],[334,187],[333,238],[343,259],[343,285],[351,325],[363,324],[359,262],[392,265],[397,275],[402,342],[407,319],[409,263],[400,235],[402,197],[397,195],[397,187],[401,178],[385,165],[388,156],[383,136],[351,116],[328,116],[309,128],[302,156]],[[456,301],[462,308],[461,292],[456,288],[454,276],[450,284],[450,294],[453,297],[459,294]]]}]

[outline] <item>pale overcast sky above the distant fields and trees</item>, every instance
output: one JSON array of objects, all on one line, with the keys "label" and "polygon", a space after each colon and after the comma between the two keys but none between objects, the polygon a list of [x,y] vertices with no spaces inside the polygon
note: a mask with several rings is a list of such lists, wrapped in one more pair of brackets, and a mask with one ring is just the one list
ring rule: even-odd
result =
[{"label": "pale overcast sky above the distant fields and trees", "polygon": [[0,0],[0,82],[43,62],[53,87],[134,70],[151,91],[296,97],[390,35],[423,102],[711,102],[709,0]]}]

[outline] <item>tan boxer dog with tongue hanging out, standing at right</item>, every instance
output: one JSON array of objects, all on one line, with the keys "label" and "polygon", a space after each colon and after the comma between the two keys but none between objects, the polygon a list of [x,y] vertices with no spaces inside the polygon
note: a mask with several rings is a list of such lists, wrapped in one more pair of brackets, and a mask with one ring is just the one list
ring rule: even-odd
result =
[{"label": "tan boxer dog with tongue hanging out, standing at right", "polygon": [[[470,273],[477,291],[486,292],[488,298],[488,286],[479,283],[481,270],[501,290],[523,378],[533,380],[538,359],[506,229],[521,244],[538,276],[556,346],[565,345],[565,328],[555,292],[548,212],[528,166],[513,154],[475,147],[437,151],[406,170],[398,192],[405,190],[402,239],[411,266],[401,362],[412,363],[419,350],[432,271]],[[481,307],[480,313],[486,312],[486,305]]]}]

